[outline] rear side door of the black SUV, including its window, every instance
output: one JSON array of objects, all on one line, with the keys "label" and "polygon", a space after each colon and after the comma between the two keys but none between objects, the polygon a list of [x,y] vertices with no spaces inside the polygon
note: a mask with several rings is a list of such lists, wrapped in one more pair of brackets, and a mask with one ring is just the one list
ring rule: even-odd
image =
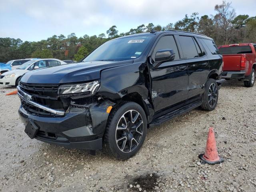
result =
[{"label": "rear side door of the black SUV, including its window", "polygon": [[188,98],[199,97],[204,92],[210,66],[206,52],[193,36],[179,36],[180,46],[188,64]]}]

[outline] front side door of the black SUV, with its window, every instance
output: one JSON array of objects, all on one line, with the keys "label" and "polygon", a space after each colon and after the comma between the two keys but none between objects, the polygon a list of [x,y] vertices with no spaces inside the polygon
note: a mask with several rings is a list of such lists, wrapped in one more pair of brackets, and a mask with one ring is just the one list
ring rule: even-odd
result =
[{"label": "front side door of the black SUV, with its window", "polygon": [[155,111],[188,99],[188,66],[186,60],[180,59],[174,36],[162,36],[153,50],[152,58],[160,49],[172,49],[176,56],[173,61],[164,62],[158,67],[150,65]]}]

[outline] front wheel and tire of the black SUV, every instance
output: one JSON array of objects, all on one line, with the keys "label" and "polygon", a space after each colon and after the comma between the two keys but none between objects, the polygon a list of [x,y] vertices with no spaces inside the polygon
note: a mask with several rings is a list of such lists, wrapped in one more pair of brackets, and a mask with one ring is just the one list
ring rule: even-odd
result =
[{"label": "front wheel and tire of the black SUV", "polygon": [[122,102],[110,113],[104,147],[110,156],[126,160],[140,150],[146,134],[147,118],[143,108],[135,102]]}]

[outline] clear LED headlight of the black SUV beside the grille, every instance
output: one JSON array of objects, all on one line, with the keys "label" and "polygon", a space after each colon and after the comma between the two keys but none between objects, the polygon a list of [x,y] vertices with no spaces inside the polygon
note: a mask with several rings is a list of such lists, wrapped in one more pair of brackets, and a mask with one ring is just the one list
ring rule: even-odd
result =
[{"label": "clear LED headlight of the black SUV beside the grille", "polygon": [[67,94],[83,94],[86,96],[94,95],[100,88],[100,81],[96,80],[93,82],[74,84],[74,85],[62,85],[59,87],[59,95]]}]

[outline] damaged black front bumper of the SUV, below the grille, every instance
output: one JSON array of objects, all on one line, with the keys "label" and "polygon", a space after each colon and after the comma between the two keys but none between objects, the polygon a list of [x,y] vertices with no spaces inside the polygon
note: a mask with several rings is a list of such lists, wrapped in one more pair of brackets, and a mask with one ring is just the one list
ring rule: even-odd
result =
[{"label": "damaged black front bumper of the SUV, below the grille", "polygon": [[19,115],[30,138],[65,146],[87,150],[102,149],[102,137],[105,132],[109,100],[70,107],[63,116],[36,116],[28,113],[21,105]]}]

